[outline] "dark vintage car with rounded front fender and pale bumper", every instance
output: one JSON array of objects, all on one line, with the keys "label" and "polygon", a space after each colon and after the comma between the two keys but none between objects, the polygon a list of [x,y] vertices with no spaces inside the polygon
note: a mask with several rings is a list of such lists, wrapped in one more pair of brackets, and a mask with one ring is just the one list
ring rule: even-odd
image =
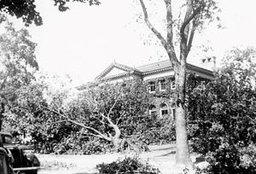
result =
[{"label": "dark vintage car with rounded front fender and pale bumper", "polygon": [[37,156],[31,153],[32,146],[13,143],[11,134],[6,132],[0,132],[0,136],[12,170],[19,174],[37,174],[40,162]]}]

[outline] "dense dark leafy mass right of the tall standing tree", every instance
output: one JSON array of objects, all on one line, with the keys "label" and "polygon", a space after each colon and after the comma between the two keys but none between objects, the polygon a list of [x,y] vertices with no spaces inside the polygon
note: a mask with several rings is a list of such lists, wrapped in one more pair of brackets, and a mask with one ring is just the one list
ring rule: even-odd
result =
[{"label": "dense dark leafy mass right of the tall standing tree", "polygon": [[207,155],[209,173],[255,173],[256,50],[230,53],[216,79],[193,90],[198,129],[192,146]]}]

